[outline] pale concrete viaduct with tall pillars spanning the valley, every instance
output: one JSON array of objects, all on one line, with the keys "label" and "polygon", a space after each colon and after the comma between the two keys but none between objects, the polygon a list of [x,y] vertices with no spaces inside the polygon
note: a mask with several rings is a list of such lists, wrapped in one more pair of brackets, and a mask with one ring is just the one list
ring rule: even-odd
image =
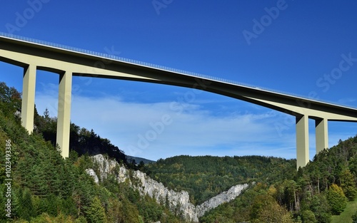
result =
[{"label": "pale concrete viaduct with tall pillars spanning the valley", "polygon": [[357,122],[357,109],[318,100],[276,93],[230,81],[175,71],[122,58],[56,46],[9,34],[0,34],[0,61],[24,68],[21,122],[32,133],[36,71],[59,74],[57,144],[61,155],[69,156],[72,76],[112,78],[176,85],[206,90],[249,103],[262,105],[296,117],[297,167],[309,161],[308,118],[316,122],[316,153],[328,148],[328,120]]}]

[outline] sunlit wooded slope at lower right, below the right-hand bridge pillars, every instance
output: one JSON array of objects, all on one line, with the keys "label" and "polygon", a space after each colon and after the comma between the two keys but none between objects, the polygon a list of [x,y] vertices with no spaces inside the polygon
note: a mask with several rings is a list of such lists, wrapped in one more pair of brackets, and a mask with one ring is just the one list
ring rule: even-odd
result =
[{"label": "sunlit wooded slope at lower right, below the right-hand bridge pillars", "polygon": [[214,209],[201,222],[266,222],[281,219],[286,210],[295,222],[331,222],[332,214],[340,214],[348,200],[356,199],[356,155],[357,137],[340,141],[286,179],[257,181],[253,190]]}]

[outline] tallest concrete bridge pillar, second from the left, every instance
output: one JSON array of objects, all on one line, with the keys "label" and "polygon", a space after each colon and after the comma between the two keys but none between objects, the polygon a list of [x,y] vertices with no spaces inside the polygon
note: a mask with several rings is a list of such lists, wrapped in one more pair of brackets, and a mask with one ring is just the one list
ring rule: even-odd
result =
[{"label": "tallest concrete bridge pillar, second from the left", "polygon": [[57,144],[62,157],[69,157],[69,129],[71,125],[72,73],[66,71],[59,77],[59,108],[57,117]]}]

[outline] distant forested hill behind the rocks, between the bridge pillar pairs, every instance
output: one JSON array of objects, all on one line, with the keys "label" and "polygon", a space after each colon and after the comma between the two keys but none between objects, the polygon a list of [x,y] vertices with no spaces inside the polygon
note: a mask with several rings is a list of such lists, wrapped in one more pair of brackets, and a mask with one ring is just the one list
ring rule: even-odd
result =
[{"label": "distant forested hill behind the rocks, between the bridge pillar pairs", "polygon": [[144,172],[173,190],[186,190],[193,204],[247,182],[271,182],[296,171],[295,160],[276,157],[191,157],[181,155],[146,165]]}]

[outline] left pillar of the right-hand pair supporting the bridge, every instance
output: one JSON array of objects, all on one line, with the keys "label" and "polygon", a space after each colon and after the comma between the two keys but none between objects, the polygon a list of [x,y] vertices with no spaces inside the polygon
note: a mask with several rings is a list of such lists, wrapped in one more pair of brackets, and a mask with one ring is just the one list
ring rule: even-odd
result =
[{"label": "left pillar of the right-hand pair supporting the bridge", "polygon": [[301,115],[296,117],[296,168],[308,161],[308,115]]}]

